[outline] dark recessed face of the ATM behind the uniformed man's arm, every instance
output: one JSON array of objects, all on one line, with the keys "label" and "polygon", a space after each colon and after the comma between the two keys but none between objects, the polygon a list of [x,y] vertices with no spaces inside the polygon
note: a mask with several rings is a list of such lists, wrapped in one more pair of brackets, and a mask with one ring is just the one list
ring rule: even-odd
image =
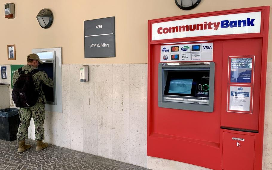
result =
[{"label": "dark recessed face of the ATM behind the uniformed man's arm", "polygon": [[[43,63],[38,66],[38,69],[40,71],[44,71],[47,73],[48,77],[51,78],[53,81],[53,63]],[[41,86],[42,91],[45,94],[45,100],[54,102],[54,91],[52,87],[46,86],[45,84],[42,84]]]}]

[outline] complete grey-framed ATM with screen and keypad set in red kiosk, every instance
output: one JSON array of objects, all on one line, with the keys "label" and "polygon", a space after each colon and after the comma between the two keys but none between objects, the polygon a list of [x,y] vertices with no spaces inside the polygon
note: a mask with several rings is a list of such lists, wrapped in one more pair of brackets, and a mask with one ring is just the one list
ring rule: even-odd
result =
[{"label": "complete grey-framed ATM with screen and keypad set in red kiosk", "polygon": [[213,111],[213,62],[159,63],[158,106]]}]

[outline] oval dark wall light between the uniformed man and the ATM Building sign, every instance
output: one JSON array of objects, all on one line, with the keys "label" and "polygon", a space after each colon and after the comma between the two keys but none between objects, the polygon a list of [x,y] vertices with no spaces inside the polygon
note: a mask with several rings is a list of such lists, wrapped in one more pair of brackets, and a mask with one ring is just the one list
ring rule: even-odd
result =
[{"label": "oval dark wall light between the uniformed man and the ATM Building sign", "polygon": [[53,15],[51,10],[49,9],[42,9],[36,16],[39,21],[39,24],[42,28],[49,28],[53,23]]}]

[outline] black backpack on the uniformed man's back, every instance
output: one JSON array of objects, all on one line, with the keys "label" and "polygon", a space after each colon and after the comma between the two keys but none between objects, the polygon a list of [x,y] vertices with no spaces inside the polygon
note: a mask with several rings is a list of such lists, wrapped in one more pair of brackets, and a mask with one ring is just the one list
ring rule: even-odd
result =
[{"label": "black backpack on the uniformed man's back", "polygon": [[18,72],[20,76],[13,86],[12,100],[16,107],[32,107],[39,98],[39,91],[35,89],[32,75],[39,72],[39,70],[33,69],[25,74],[25,70],[19,68]]}]

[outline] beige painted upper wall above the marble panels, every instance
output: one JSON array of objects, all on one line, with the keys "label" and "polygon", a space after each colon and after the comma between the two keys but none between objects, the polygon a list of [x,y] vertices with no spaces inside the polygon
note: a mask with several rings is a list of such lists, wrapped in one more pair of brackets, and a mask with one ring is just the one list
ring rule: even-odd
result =
[{"label": "beige painted upper wall above the marble panels", "polygon": [[[271,0],[202,0],[193,10],[179,9],[174,0],[13,0],[15,19],[0,16],[0,64],[23,64],[32,48],[63,47],[63,64],[147,63],[147,23],[150,19],[245,7],[272,6]],[[39,26],[36,15],[42,8],[53,12],[53,25]],[[272,10],[271,10],[272,11]],[[83,21],[115,16],[116,57],[84,58]],[[272,45],[270,13],[269,47]],[[16,60],[7,60],[7,45],[16,45]],[[272,49],[268,48],[268,62]]]}]

